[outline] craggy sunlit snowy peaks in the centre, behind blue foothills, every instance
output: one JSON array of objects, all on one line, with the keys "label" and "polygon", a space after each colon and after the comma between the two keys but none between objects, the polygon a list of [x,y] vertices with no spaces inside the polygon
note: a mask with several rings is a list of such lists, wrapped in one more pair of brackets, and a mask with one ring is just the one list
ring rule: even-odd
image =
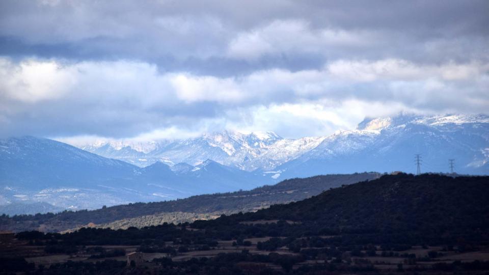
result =
[{"label": "craggy sunlit snowy peaks in the centre, behind blue foothills", "polygon": [[[277,144],[278,141],[283,142]],[[291,154],[296,154],[293,151],[293,147],[297,147],[297,145],[290,145],[292,142],[293,140],[284,140],[274,132],[243,134],[236,131],[223,131],[205,133],[202,136],[187,140],[150,141],[147,145],[142,142],[108,141],[75,146],[104,157],[123,160],[139,167],[146,167],[157,161],[165,162],[170,166],[181,162],[197,165],[202,161],[212,159],[225,166],[253,171],[257,168],[269,167],[267,164],[268,159],[264,159],[263,163],[261,163],[257,158],[260,159],[261,155],[274,146],[277,147],[279,145],[285,148],[285,150],[280,150],[282,152],[280,155],[283,158],[279,163],[287,161],[288,156],[284,156],[283,153],[287,148],[290,147],[290,150],[292,150]],[[277,156],[274,157],[277,158]],[[275,162],[277,161],[271,161],[271,163]]]}]

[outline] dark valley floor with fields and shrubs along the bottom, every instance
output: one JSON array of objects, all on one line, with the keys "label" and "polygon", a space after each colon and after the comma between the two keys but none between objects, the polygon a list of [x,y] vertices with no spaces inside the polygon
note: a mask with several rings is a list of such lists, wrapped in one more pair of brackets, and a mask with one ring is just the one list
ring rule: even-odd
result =
[{"label": "dark valley floor with fields and shrubs along the bottom", "polygon": [[[276,221],[261,221],[261,223]],[[195,230],[187,228],[186,230]],[[338,236],[319,236],[321,239]],[[166,252],[151,251],[144,245],[83,245],[72,248],[72,251],[52,251],[52,245],[36,243],[31,240],[12,239],[0,242],[0,260],[25,259],[25,267],[17,266],[17,271],[37,270],[46,274],[74,273],[163,273],[168,270],[176,274],[194,273],[198,268],[201,274],[211,274],[212,268],[221,266],[229,268],[232,263],[236,270],[246,274],[282,274],[282,273],[402,273],[402,274],[480,274],[489,272],[489,246],[472,247],[469,251],[460,251],[449,246],[409,246],[396,251],[383,250],[381,245],[369,245],[358,251],[343,249],[340,256],[332,257],[326,250],[336,250],[333,246],[293,250],[286,246],[264,249],[261,244],[273,242],[274,237],[256,237],[239,240],[219,240],[204,246],[187,246],[177,244],[182,240],[160,243]],[[296,241],[311,241],[309,237]],[[36,245],[37,244],[37,245]],[[133,265],[127,264],[130,253],[141,253],[142,261]],[[305,254],[308,257],[305,257]],[[242,257],[246,255],[247,257]],[[262,257],[259,257],[259,256]],[[311,257],[311,255],[314,255]],[[255,256],[255,257],[254,257]],[[258,257],[258,258],[257,258]],[[229,262],[222,260],[228,258]],[[214,259],[209,265],[210,259]],[[290,262],[286,260],[290,259]],[[285,261],[284,261],[285,260]],[[90,267],[89,269],[87,269]],[[212,267],[212,268],[211,268]],[[6,267],[4,267],[6,268]],[[80,269],[78,269],[80,268]],[[95,269],[94,269],[95,268]],[[7,271],[8,269],[1,269]],[[15,270],[15,268],[13,269]],[[12,271],[13,271],[12,270]],[[234,270],[234,271],[236,271]],[[7,273],[7,272],[6,272]],[[218,272],[221,273],[221,272]]]}]

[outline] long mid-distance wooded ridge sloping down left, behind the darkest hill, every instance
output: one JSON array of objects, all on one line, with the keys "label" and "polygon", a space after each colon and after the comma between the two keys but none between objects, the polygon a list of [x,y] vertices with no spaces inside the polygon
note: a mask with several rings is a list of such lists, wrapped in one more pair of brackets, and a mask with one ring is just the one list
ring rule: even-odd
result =
[{"label": "long mid-distance wooded ridge sloping down left, behind the darkest hill", "polygon": [[[134,203],[92,211],[65,211],[58,214],[48,213],[13,217],[3,215],[0,216],[0,222],[4,230],[63,231],[86,226],[89,223],[96,225],[106,224],[122,219],[158,213],[183,212],[191,214],[213,213],[219,215],[240,211],[248,212],[274,204],[304,200],[330,188],[373,180],[379,176],[380,174],[378,173],[355,173],[349,175],[325,175],[305,179],[289,179],[275,185],[267,185],[250,191],[200,195],[174,201]],[[148,219],[151,217],[145,218]],[[133,226],[138,225],[134,224]]]}]

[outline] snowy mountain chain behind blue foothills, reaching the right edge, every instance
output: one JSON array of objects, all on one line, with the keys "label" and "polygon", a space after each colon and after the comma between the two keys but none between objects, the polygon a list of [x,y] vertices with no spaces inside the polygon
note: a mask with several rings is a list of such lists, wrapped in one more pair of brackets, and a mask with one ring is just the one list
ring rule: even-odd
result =
[{"label": "snowy mountain chain behind blue foothills, reaching the right edge", "polygon": [[110,141],[79,145],[91,152],[138,166],[155,161],[193,166],[207,159],[245,171],[263,171],[276,179],[362,171],[448,172],[455,159],[459,174],[489,174],[489,116],[417,116],[367,118],[357,129],[329,136],[282,139],[273,132],[223,131],[180,141]]}]

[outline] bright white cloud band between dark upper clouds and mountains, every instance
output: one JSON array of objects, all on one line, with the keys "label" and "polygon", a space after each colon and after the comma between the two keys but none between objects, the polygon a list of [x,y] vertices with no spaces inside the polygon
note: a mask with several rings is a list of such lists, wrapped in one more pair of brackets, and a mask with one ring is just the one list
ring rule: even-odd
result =
[{"label": "bright white cloud band between dark upper clouds and mountains", "polygon": [[[324,135],[367,116],[483,113],[488,70],[480,62],[337,60],[319,70],[216,77],[160,73],[155,64],[135,61],[2,58],[0,77],[8,80],[0,84],[0,118],[7,121],[3,134],[149,138],[236,129]],[[50,129],[54,124],[65,127]]]}]

